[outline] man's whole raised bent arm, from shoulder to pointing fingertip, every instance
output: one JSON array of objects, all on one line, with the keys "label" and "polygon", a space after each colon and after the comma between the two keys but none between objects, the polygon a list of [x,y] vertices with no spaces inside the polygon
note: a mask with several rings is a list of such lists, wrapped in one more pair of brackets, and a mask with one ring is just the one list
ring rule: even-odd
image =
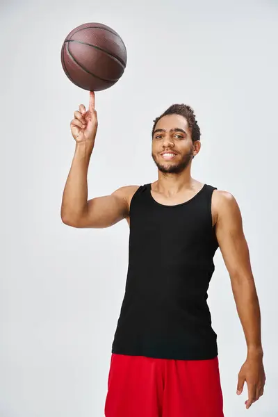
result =
[{"label": "man's whole raised bent arm, from shoulder to pointing fingertip", "polygon": [[111,195],[88,201],[88,167],[97,133],[95,94],[90,92],[88,111],[81,104],[74,112],[71,131],[76,149],[67,177],[60,210],[62,221],[72,227],[104,228],[129,215],[129,203],[138,186],[118,188]]}]

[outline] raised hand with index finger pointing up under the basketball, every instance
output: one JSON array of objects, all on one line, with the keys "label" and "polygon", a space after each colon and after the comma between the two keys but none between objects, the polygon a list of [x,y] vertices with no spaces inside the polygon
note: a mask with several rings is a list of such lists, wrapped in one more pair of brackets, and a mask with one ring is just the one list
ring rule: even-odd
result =
[{"label": "raised hand with index finger pointing up under the basketball", "polygon": [[95,111],[95,92],[90,91],[90,102],[88,111],[81,104],[79,111],[74,112],[74,119],[70,123],[72,136],[76,143],[89,142],[95,144],[97,134],[97,112]]}]

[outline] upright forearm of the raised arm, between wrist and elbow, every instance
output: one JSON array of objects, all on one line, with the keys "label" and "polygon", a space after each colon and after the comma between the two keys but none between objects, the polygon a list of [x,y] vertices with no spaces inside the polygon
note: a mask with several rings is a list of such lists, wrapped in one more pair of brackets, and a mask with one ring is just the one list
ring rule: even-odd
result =
[{"label": "upright forearm of the raised arm, between wrist and elbow", "polygon": [[88,202],[88,167],[92,145],[87,142],[76,143],[74,158],[67,177],[61,206],[61,218],[64,222],[78,219]]}]

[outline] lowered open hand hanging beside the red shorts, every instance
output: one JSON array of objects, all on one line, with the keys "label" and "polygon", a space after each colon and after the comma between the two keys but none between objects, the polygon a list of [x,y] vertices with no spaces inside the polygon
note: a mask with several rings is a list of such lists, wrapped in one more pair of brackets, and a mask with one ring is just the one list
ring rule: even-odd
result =
[{"label": "lowered open hand hanging beside the red shorts", "polygon": [[263,360],[256,357],[247,357],[238,373],[238,388],[236,391],[240,395],[243,392],[244,382],[247,382],[248,400],[245,401],[247,409],[263,395],[265,379]]}]

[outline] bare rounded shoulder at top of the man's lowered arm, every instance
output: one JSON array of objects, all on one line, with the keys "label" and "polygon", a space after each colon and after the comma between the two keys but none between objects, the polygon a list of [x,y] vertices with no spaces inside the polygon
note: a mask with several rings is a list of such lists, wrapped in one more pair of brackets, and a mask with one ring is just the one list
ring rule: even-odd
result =
[{"label": "bare rounded shoulder at top of the man's lowered arm", "polygon": [[226,190],[214,190],[211,200],[211,211],[215,222],[222,217],[238,217],[240,216],[240,208],[238,202],[232,193]]}]

